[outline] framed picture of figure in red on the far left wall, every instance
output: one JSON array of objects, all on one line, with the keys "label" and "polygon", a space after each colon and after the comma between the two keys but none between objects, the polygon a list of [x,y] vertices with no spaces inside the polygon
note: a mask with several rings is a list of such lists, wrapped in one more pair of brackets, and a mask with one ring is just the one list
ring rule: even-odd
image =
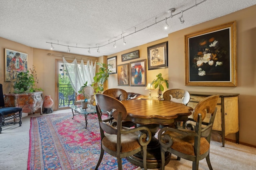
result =
[{"label": "framed picture of figure in red on the far left wall", "polygon": [[26,72],[28,70],[28,54],[5,49],[4,56],[4,77],[6,82],[11,80],[11,76],[14,76],[14,72]]}]

